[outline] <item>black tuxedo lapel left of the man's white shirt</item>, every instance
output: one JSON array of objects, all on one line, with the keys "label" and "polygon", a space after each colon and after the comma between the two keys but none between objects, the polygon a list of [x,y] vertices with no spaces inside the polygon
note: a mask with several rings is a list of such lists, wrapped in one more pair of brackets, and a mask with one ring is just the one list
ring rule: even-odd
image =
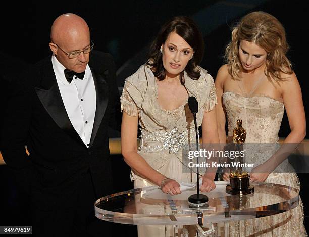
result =
[{"label": "black tuxedo lapel left of the man's white shirt", "polygon": [[39,100],[41,101],[43,107],[45,108],[49,116],[52,117],[55,123],[62,130],[64,130],[80,145],[86,147],[69,119],[66,108],[61,98],[61,93],[56,81],[51,61],[47,63],[47,66],[43,70],[41,76],[43,78],[40,85],[42,88],[35,87],[35,92]]}]

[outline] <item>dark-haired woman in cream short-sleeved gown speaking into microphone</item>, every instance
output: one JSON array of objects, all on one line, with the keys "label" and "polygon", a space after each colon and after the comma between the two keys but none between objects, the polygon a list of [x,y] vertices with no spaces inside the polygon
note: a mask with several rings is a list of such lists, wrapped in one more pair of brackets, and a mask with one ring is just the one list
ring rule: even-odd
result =
[{"label": "dark-haired woman in cream short-sleeved gown speaking into microphone", "polygon": [[[198,102],[197,125],[202,126],[203,143],[219,143],[214,80],[198,66],[203,50],[195,23],[188,17],[174,17],[153,41],[146,64],[125,81],[121,150],[135,188],[157,185],[162,192],[176,195],[181,193],[179,182],[190,182],[182,164],[188,164],[182,160],[182,146],[196,143],[188,97]],[[215,173],[203,175],[201,191],[215,188],[214,177]]]}]

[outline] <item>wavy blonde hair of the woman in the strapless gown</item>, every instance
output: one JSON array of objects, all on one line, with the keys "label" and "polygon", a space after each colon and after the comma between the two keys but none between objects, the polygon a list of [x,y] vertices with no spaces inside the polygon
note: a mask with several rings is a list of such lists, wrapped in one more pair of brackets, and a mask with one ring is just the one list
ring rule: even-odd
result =
[{"label": "wavy blonde hair of the woman in the strapless gown", "polygon": [[285,30],[274,16],[265,12],[245,15],[232,30],[232,40],[225,49],[225,59],[232,79],[239,79],[242,69],[238,48],[241,40],[253,42],[267,52],[265,75],[276,82],[283,80],[281,73],[292,74],[292,65],[286,57],[289,45]]}]

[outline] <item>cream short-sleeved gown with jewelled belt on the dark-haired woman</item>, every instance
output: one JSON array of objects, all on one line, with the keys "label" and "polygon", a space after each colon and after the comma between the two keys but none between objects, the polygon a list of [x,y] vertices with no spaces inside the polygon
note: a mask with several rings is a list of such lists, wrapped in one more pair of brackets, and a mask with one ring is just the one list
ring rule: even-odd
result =
[{"label": "cream short-sleeved gown with jewelled belt on the dark-haired woman", "polygon": [[[184,86],[188,97],[194,96],[198,102],[197,125],[202,123],[204,112],[211,111],[217,103],[214,80],[206,70],[199,68],[201,76],[192,80],[184,72]],[[184,170],[182,147],[196,143],[192,113],[187,100],[174,110],[164,110],[157,101],[158,86],[150,67],[142,65],[136,73],[125,81],[121,96],[121,109],[130,116],[138,116],[141,127],[138,154],[158,172],[178,182],[190,182],[191,175]],[[195,179],[193,175],[193,181]],[[152,186],[148,180],[131,171],[134,188]],[[136,207],[137,213],[164,212],[160,205]],[[138,226],[138,236],[174,236],[173,226]]]}]

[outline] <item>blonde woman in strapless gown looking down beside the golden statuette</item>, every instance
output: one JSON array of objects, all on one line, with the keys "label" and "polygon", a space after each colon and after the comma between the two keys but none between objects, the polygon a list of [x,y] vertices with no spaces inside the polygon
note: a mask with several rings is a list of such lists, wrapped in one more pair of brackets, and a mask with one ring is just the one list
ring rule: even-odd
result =
[{"label": "blonde woman in strapless gown looking down beside the golden statuette", "polygon": [[[244,16],[232,31],[225,54],[227,64],[217,74],[216,113],[221,143],[232,137],[236,120],[242,119],[242,126],[247,131],[245,142],[264,144],[265,149],[252,157],[259,165],[251,170],[251,181],[300,188],[297,175],[284,172],[289,170],[286,156],[282,155],[285,148],[274,146],[278,144],[284,109],[291,129],[284,140],[286,147],[292,150],[305,137],[301,89],[285,56],[288,48],[285,30],[274,16],[265,12]],[[284,169],[276,172],[279,164]],[[223,179],[229,180],[228,174],[224,174]],[[301,200],[292,211],[230,222],[229,232],[230,236],[305,236]]]}]

